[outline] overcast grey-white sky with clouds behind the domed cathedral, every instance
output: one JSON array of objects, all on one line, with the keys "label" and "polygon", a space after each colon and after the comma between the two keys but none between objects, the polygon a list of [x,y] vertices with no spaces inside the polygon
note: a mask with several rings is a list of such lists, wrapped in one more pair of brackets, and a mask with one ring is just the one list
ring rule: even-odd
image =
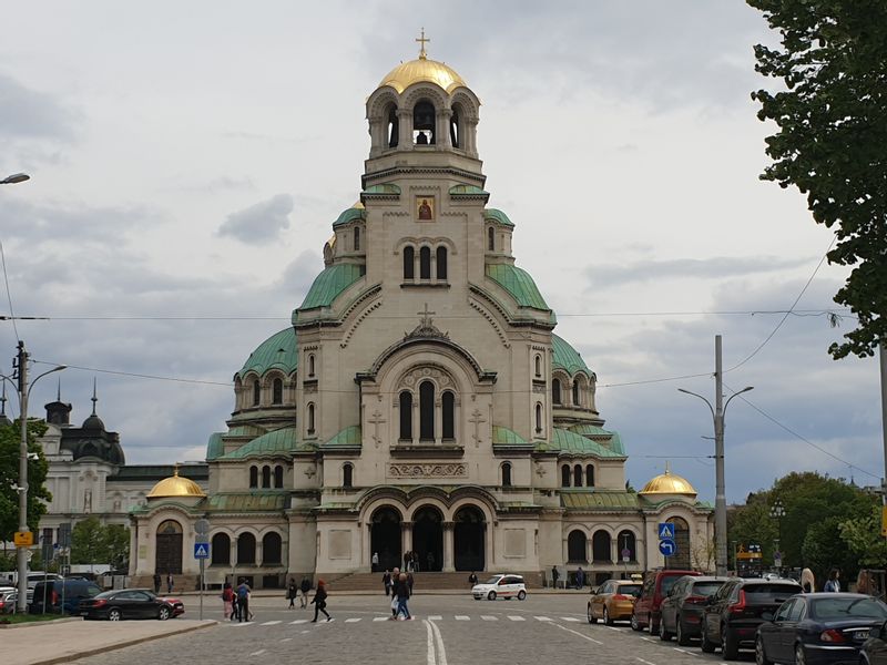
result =
[{"label": "overcast grey-white sky with clouds behind the domed cathedral", "polygon": [[[743,2],[0,0],[0,177],[32,176],[0,187],[0,241],[14,314],[50,317],[18,337],[72,366],[73,422],[98,377],[129,462],[203,459],[225,429],[234,372],[287,326],[358,200],[364,101],[424,25],[483,102],[489,205],[597,372],[635,488],[671,460],[714,499],[711,415],[676,390],[713,399],[714,382],[659,379],[710,375],[716,334],[726,386],[755,387],[727,410],[730,501],[792,470],[883,474],[877,360],[826,352],[854,325],[824,314],[845,270],[824,264],[805,316],[758,350],[832,235],[758,181],[774,126],[750,92],[774,83],[752,48],[774,37]],[[4,374],[16,340],[0,321]],[[31,412],[55,389],[37,383]]]}]

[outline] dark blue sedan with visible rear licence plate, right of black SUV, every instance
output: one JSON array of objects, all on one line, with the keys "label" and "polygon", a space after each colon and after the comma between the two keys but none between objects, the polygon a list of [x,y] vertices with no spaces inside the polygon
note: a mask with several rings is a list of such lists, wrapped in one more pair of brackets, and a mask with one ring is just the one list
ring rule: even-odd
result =
[{"label": "dark blue sedan with visible rear licence plate, right of black SUV", "polygon": [[788,598],[769,618],[757,628],[758,665],[856,664],[871,630],[887,621],[887,605],[861,593],[807,593]]}]

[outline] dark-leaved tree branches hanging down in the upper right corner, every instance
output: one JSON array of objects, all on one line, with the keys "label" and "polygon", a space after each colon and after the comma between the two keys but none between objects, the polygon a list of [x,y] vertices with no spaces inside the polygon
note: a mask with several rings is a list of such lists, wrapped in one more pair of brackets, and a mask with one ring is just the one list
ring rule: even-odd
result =
[{"label": "dark-leaved tree branches hanging down in the upper right corner", "polygon": [[830,263],[855,266],[835,301],[858,317],[834,358],[873,356],[887,340],[887,2],[747,0],[782,35],[755,47],[755,69],[786,90],[752,93],[774,162],[762,174],[807,195],[817,224],[836,227]]}]

